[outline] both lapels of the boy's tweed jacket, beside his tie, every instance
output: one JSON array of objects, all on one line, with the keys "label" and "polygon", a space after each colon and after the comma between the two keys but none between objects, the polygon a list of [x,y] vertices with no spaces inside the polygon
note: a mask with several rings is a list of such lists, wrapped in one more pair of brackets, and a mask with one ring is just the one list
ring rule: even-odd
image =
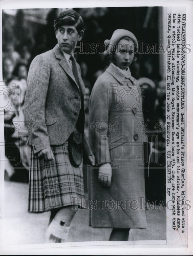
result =
[{"label": "both lapels of the boy's tweed jacket, beside his tie", "polygon": [[60,60],[59,65],[63,68],[63,70],[67,73],[67,75],[76,83],[79,90],[84,94],[84,84],[83,84],[83,81],[81,78],[81,73],[80,73],[79,66],[78,66],[77,62],[76,62],[76,67],[77,67],[77,71],[78,71],[79,86],[74,78],[72,69],[69,67],[67,60],[66,60],[65,56],[63,55],[63,52],[60,50],[59,46],[56,45],[53,48],[53,51],[55,53],[56,58]]}]

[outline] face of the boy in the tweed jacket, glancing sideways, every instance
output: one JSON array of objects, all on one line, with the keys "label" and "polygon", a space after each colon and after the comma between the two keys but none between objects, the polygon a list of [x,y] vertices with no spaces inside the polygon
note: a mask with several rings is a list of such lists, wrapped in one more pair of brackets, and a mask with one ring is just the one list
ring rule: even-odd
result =
[{"label": "face of the boy in the tweed jacket, glancing sideways", "polygon": [[74,52],[77,41],[80,41],[83,35],[83,30],[81,30],[78,34],[76,27],[69,25],[60,26],[56,31],[56,38],[58,39],[58,45],[60,49],[70,55],[72,55],[72,53]]}]

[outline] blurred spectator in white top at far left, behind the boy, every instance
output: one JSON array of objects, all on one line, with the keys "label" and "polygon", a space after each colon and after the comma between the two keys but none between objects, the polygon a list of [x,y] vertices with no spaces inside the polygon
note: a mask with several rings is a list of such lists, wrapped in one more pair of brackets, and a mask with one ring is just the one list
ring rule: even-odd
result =
[{"label": "blurred spectator in white top at far left, behind the boy", "polygon": [[[25,136],[20,136],[19,133],[27,133],[22,103],[24,101],[25,89],[23,84],[18,80],[11,80],[8,86],[11,90],[12,105],[9,111],[4,111],[4,126],[5,126],[5,156],[13,166],[14,172],[10,172],[10,169],[5,169],[7,179],[17,182],[28,182],[28,163],[25,163],[27,159],[26,150],[27,141]],[[24,147],[24,150],[23,150]],[[22,154],[21,154],[22,152]]]}]

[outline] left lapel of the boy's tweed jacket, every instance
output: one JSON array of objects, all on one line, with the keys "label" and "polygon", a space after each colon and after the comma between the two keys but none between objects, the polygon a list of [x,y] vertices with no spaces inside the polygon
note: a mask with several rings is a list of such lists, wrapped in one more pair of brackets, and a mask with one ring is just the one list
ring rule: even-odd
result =
[{"label": "left lapel of the boy's tweed jacket", "polygon": [[[67,75],[76,83],[77,87],[78,84],[74,78],[72,69],[69,67],[66,58],[64,57],[62,51],[60,50],[60,48],[58,47],[58,45],[56,45],[53,48],[53,51],[55,53],[55,56],[57,59],[60,59],[59,65],[63,68],[63,70],[67,73]],[[79,87],[78,87],[79,88]]]}]

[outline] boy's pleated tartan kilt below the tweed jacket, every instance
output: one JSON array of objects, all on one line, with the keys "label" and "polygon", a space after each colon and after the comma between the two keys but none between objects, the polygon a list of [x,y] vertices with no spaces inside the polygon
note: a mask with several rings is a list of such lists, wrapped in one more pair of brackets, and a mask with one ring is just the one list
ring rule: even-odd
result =
[{"label": "boy's pleated tartan kilt below the tweed jacket", "polygon": [[84,197],[82,164],[71,165],[68,142],[51,149],[55,160],[45,161],[35,156],[31,146],[28,211],[45,212],[68,205],[84,208],[79,199]]}]

